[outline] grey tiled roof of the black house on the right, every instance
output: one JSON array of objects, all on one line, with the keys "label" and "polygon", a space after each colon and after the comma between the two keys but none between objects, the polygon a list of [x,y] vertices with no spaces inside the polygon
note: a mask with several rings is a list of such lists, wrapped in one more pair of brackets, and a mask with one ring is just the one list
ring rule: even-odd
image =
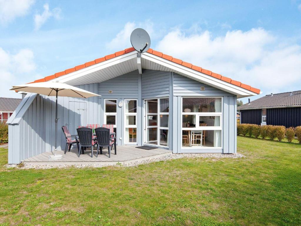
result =
[{"label": "grey tiled roof of the black house on the right", "polygon": [[237,107],[239,110],[250,108],[273,108],[273,107],[287,107],[287,106],[301,106],[301,90],[275,93],[263,96],[259,99],[253,100],[247,104]]}]

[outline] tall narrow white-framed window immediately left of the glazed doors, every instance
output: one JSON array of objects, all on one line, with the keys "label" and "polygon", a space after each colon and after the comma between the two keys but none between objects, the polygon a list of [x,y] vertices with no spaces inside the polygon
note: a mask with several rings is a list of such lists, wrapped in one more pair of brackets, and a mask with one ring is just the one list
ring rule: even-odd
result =
[{"label": "tall narrow white-framed window immediately left of the glazed doors", "polygon": [[137,143],[137,100],[125,102],[125,143]]}]

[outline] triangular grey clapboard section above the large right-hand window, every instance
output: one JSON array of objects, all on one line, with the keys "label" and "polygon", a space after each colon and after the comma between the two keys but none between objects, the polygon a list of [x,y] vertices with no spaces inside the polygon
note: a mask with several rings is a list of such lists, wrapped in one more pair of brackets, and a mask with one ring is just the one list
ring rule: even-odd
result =
[{"label": "triangular grey clapboard section above the large right-hand window", "polygon": [[[205,87],[204,91],[200,90],[201,86]],[[235,96],[179,74],[173,76],[173,90],[174,96]]]}]

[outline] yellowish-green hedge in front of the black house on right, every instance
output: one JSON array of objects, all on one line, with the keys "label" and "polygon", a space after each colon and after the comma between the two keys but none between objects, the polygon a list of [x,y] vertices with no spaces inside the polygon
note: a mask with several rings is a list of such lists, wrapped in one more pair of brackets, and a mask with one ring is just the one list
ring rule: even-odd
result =
[{"label": "yellowish-green hedge in front of the black house on right", "polygon": [[284,126],[237,124],[237,135],[254,136],[256,138],[261,136],[262,139],[268,137],[271,140],[277,138],[279,141],[286,137],[288,142],[292,142],[296,135],[297,140],[301,143],[301,126],[286,129]]}]

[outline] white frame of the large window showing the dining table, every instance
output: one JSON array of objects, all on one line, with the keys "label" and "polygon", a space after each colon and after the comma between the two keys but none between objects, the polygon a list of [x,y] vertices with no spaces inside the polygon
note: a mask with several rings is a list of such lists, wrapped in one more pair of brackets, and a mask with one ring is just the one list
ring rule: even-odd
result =
[{"label": "white frame of the large window showing the dining table", "polygon": [[[221,98],[221,112],[183,112],[183,98]],[[224,112],[224,98],[222,96],[182,96],[181,97],[181,149],[223,149],[223,112]],[[200,126],[200,124],[196,124],[194,128],[183,127],[183,115],[195,115],[195,120],[199,120],[199,116],[220,116],[219,126]],[[221,146],[220,147],[200,147],[200,146],[192,146],[192,147],[183,147],[182,142],[182,131],[183,130],[220,130],[221,131]]]}]

